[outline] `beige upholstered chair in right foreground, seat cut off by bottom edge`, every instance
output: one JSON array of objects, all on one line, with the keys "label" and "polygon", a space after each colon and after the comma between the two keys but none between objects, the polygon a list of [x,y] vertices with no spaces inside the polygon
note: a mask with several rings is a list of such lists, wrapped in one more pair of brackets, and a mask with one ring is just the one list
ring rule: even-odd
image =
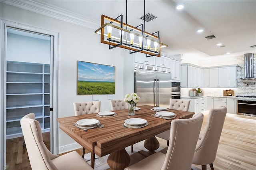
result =
[{"label": "beige upholstered chair in right foreground, seat cut off by bottom edge", "polygon": [[125,170],[190,170],[203,119],[198,113],[190,119],[173,120],[166,154],[156,152]]}]

